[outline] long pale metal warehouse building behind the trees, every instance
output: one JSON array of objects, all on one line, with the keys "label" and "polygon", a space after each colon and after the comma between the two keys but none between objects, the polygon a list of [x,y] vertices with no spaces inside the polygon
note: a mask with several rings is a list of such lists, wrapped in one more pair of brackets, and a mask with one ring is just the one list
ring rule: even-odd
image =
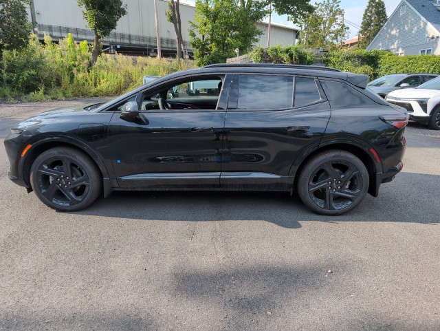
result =
[{"label": "long pale metal warehouse building behind the trees", "polygon": [[[118,26],[107,36],[103,43],[108,50],[131,52],[133,54],[154,54],[156,50],[155,16],[153,0],[123,0],[127,6],[127,14],[118,21]],[[52,39],[64,38],[72,33],[78,41],[94,40],[94,32],[87,28],[81,8],[76,0],[32,0],[37,23],[39,38],[49,34]],[[162,46],[162,55],[174,55],[176,50],[175,31],[173,23],[166,20],[166,0],[157,0],[159,16],[159,34]],[[180,1],[181,28],[184,38],[184,47],[188,54],[192,53],[189,40],[189,21],[194,21],[195,5],[186,0]],[[31,19],[31,14],[30,14]],[[267,23],[257,23],[263,30],[258,45],[267,45]],[[294,45],[298,29],[284,25],[272,24],[271,45]]]}]

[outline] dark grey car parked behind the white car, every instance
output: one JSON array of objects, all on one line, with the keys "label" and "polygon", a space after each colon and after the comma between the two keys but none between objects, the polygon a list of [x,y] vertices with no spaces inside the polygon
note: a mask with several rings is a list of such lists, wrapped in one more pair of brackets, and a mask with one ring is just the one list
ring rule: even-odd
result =
[{"label": "dark grey car parked behind the white car", "polygon": [[408,87],[417,87],[432,78],[436,78],[436,74],[391,74],[376,78],[367,86],[375,93],[385,98],[388,93],[396,89],[406,89]]}]

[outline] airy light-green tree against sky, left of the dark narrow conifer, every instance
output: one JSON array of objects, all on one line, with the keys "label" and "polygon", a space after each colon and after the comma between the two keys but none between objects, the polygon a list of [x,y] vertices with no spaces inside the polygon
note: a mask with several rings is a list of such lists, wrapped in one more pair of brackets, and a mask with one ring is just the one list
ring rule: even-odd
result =
[{"label": "airy light-green tree against sky, left of the dark narrow conifer", "polygon": [[344,10],[339,0],[315,3],[315,11],[299,20],[303,28],[300,44],[305,47],[326,50],[341,45],[347,39],[349,27],[344,25]]}]

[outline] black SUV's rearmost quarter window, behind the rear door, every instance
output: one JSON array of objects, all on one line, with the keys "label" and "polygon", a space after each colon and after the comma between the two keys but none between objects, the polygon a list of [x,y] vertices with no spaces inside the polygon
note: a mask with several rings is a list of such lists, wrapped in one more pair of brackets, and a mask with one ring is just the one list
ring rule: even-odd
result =
[{"label": "black SUV's rearmost quarter window, behind the rear door", "polygon": [[320,82],[331,107],[349,108],[353,105],[356,107],[377,105],[371,98],[364,96],[364,94],[345,83],[325,80],[320,80]]}]

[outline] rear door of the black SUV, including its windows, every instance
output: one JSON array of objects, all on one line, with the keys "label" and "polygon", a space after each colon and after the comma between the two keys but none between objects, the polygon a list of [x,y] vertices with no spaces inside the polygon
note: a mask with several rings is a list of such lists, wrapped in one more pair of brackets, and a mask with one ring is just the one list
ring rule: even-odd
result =
[{"label": "rear door of the black SUV, including its windows", "polygon": [[315,77],[234,74],[221,186],[291,189],[292,162],[307,145],[320,140],[329,117],[329,103]]}]

